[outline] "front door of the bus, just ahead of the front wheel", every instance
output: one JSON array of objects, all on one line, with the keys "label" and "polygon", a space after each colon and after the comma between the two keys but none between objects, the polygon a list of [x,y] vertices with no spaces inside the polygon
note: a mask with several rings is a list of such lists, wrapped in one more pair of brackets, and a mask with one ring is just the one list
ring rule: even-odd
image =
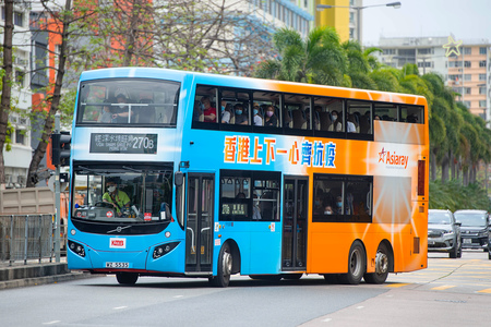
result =
[{"label": "front door of the bus, just ahead of the front wheel", "polygon": [[212,271],[213,173],[189,173],[188,216],[185,219],[185,271]]}]

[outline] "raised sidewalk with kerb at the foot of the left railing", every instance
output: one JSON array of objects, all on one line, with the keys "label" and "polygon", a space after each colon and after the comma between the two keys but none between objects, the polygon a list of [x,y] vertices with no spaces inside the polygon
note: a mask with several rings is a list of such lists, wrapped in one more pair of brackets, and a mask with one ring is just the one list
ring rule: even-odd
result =
[{"label": "raised sidewalk with kerb at the foot of the left railing", "polygon": [[70,271],[67,266],[67,258],[62,257],[60,263],[55,258],[49,262],[38,259],[15,262],[9,266],[9,262],[0,263],[0,290],[55,283],[59,281],[88,278],[91,274],[82,271]]}]

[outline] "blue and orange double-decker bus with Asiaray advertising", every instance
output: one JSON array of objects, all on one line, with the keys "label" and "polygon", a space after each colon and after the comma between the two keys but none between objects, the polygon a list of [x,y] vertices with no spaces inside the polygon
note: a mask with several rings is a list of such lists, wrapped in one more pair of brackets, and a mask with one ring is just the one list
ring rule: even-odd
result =
[{"label": "blue and orange double-decker bus with Asiaray advertising", "polygon": [[427,267],[420,96],[87,71],[70,160],[70,269],[227,287],[235,274],[357,284]]}]

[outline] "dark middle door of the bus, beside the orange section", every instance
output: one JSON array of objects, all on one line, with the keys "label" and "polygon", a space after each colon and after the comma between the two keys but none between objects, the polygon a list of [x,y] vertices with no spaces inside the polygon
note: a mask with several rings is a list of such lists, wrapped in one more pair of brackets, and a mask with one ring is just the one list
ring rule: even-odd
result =
[{"label": "dark middle door of the bus, beside the orange section", "polygon": [[309,180],[285,177],[283,201],[283,270],[306,270]]}]

